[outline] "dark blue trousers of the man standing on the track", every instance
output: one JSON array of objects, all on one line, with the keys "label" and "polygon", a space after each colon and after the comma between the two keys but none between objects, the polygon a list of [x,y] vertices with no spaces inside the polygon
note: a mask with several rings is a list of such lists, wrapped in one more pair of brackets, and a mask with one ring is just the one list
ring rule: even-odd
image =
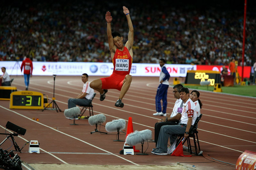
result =
[{"label": "dark blue trousers of the man standing on the track", "polygon": [[[159,84],[156,91],[156,111],[166,113],[167,108],[167,91],[169,85],[167,84]],[[163,110],[161,107],[161,100],[163,101]]]}]

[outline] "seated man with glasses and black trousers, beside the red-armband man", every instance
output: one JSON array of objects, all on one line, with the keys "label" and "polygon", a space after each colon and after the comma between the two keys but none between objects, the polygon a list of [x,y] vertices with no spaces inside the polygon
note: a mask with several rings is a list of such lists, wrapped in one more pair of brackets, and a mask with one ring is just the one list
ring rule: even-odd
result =
[{"label": "seated man with glasses and black trousers, beside the red-armband man", "polygon": [[156,124],[155,124],[155,142],[157,145],[157,140],[159,136],[159,132],[162,126],[164,125],[176,125],[180,121],[182,107],[183,107],[183,101],[180,99],[180,89],[183,88],[182,84],[176,84],[173,86],[173,95],[174,98],[176,98],[176,102],[174,104],[172,113],[168,115],[167,117],[161,118]]}]

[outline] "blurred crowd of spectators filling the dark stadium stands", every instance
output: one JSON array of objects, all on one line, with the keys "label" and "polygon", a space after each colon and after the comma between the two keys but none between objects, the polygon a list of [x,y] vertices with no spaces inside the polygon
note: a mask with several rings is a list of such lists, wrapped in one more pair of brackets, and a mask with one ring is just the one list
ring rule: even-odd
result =
[{"label": "blurred crowd of spectators filling the dark stadium stands", "polygon": [[[0,60],[111,62],[106,11],[127,41],[122,6],[134,26],[133,62],[228,65],[242,61],[244,7],[158,5],[134,1],[15,2],[1,7]],[[164,5],[164,6],[163,6]],[[168,6],[168,8],[166,8]],[[254,8],[255,9],[255,8]],[[244,65],[255,60],[255,11],[247,11]],[[123,29],[127,28],[127,30]]]}]

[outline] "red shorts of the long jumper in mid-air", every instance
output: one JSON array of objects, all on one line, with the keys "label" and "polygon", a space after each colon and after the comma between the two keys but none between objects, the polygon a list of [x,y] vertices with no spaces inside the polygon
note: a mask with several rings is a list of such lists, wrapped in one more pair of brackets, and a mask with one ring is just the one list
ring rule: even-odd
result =
[{"label": "red shorts of the long jumper in mid-air", "polygon": [[101,89],[117,89],[121,90],[123,87],[123,81],[126,75],[111,74],[109,77],[100,78],[102,82]]}]

